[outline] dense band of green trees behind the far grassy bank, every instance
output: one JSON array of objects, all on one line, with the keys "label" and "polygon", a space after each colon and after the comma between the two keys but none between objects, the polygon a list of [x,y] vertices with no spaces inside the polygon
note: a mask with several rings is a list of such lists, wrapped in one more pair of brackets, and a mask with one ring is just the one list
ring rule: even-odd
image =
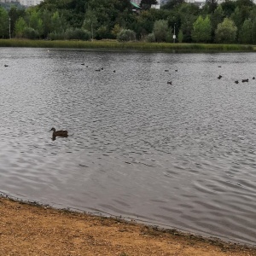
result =
[{"label": "dense band of green trees behind the far grassy bank", "polygon": [[[148,2],[147,2],[148,1]],[[170,0],[135,11],[130,0],[45,0],[38,6],[0,6],[0,37],[30,39],[118,39],[179,43],[256,43],[256,5],[252,0],[208,1],[202,8]]]}]

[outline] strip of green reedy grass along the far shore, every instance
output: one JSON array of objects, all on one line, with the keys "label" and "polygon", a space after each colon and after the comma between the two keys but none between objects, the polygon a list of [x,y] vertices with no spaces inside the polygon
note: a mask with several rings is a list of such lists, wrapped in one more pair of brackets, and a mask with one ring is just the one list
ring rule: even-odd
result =
[{"label": "strip of green reedy grass along the far shore", "polygon": [[241,44],[168,44],[116,41],[49,41],[0,39],[0,47],[73,48],[73,49],[137,49],[169,52],[253,52],[253,45]]}]

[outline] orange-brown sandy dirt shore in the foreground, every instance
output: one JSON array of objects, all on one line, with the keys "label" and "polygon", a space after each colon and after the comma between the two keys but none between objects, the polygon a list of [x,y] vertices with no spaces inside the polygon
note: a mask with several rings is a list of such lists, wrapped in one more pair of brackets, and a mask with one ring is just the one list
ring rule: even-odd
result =
[{"label": "orange-brown sandy dirt shore in the foreground", "polygon": [[248,256],[256,247],[0,197],[0,255]]}]

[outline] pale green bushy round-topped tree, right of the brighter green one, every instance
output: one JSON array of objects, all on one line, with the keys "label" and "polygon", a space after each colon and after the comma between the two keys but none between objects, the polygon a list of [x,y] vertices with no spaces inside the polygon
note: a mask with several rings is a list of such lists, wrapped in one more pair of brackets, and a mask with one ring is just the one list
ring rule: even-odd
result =
[{"label": "pale green bushy round-topped tree, right of the brighter green one", "polygon": [[233,20],[225,18],[224,21],[218,24],[215,31],[215,40],[217,43],[232,44],[236,41],[237,27]]}]

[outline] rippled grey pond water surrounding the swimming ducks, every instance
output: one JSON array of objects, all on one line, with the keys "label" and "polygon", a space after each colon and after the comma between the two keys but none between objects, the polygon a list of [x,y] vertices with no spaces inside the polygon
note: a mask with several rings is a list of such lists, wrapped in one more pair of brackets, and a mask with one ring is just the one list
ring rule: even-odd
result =
[{"label": "rippled grey pond water surrounding the swimming ducks", "polygon": [[255,54],[0,56],[0,191],[255,244]]}]

